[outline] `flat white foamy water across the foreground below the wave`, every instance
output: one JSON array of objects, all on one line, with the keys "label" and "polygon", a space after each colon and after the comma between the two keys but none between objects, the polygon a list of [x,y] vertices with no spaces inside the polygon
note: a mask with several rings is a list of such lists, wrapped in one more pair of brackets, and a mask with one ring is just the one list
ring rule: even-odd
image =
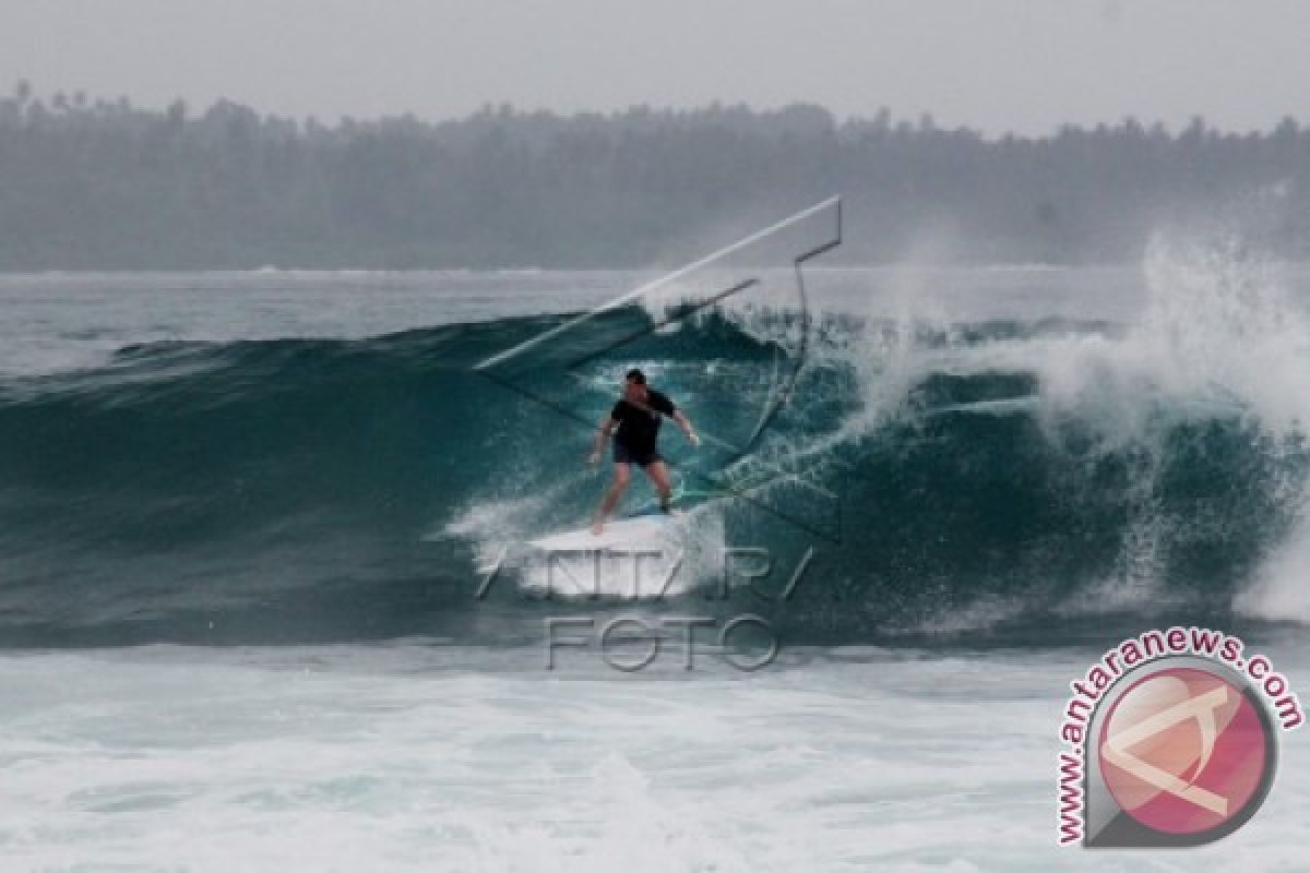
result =
[{"label": "flat white foamy water across the foreground below the wave", "polygon": [[[1094,653],[798,652],[658,678],[511,654],[10,652],[4,866],[1141,869],[1055,846],[1057,716]],[[1151,869],[1297,869],[1310,760],[1285,739],[1250,823]]]}]

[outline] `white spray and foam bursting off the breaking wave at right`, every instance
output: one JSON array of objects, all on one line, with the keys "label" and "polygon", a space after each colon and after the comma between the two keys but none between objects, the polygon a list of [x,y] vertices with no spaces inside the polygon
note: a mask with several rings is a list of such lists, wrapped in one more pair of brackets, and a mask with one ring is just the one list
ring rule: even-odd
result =
[{"label": "white spray and foam bursting off the breaking wave at right", "polygon": [[[1260,259],[1231,238],[1158,236],[1142,266],[1138,312],[1120,312],[1114,330],[1052,331],[1022,339],[948,342],[924,346],[922,336],[951,338],[959,308],[938,284],[939,271],[907,270],[883,276],[866,301],[866,330],[837,343],[811,346],[811,365],[840,363],[861,382],[865,406],[838,432],[807,450],[883,427],[913,410],[909,391],[929,373],[975,376],[1031,373],[1036,391],[1028,408],[1060,446],[1064,425],[1077,423],[1093,450],[1124,453],[1136,465],[1128,503],[1120,575],[1095,590],[1077,593],[1069,611],[1161,602],[1162,542],[1183,524],[1161,509],[1158,474],[1169,428],[1183,421],[1242,420],[1267,437],[1264,450],[1296,449],[1310,423],[1310,318],[1303,276],[1288,264]],[[1121,280],[1121,277],[1120,277]],[[1300,284],[1297,284],[1300,281]],[[857,312],[850,297],[842,312]],[[1031,313],[1027,314],[1031,319]],[[748,315],[739,315],[747,330]],[[981,406],[979,406],[981,411]],[[1087,449],[1083,448],[1083,452]],[[1279,462],[1279,457],[1272,458]],[[1303,482],[1288,472],[1271,495],[1300,513]],[[1280,552],[1264,564],[1237,607],[1251,615],[1310,620],[1305,572],[1310,569],[1310,524],[1301,522]]]}]

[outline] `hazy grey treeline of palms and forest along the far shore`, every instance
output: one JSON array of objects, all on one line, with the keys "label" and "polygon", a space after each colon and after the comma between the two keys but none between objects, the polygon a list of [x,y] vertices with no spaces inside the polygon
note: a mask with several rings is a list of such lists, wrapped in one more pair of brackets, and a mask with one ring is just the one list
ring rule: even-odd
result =
[{"label": "hazy grey treeline of palms and forest along the far shore", "polygon": [[1310,130],[986,137],[812,105],[322,124],[0,98],[0,271],[648,267],[833,194],[845,263],[1125,262],[1179,225],[1305,258]]}]

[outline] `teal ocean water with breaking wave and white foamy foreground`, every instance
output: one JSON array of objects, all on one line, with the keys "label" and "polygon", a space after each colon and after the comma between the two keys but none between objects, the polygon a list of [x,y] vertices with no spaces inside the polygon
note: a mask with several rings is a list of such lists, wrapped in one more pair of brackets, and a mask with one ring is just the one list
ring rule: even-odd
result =
[{"label": "teal ocean water with breaking wave and white foamy foreground", "polygon": [[[1220,843],[1056,848],[1103,649],[1204,624],[1310,682],[1310,274],[1178,241],[807,268],[803,312],[637,301],[596,353],[532,346],[650,277],[0,276],[0,869],[1310,864],[1300,733]],[[714,437],[667,428],[680,483],[736,493],[663,597],[521,547],[587,520],[630,365]],[[618,616],[705,627],[624,671]]]}]

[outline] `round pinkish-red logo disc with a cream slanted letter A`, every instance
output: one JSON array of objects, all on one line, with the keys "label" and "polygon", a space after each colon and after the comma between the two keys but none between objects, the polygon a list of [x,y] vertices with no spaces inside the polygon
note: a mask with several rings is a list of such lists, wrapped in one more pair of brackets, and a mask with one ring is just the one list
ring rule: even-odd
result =
[{"label": "round pinkish-red logo disc with a cream slanted letter A", "polygon": [[1100,730],[1100,771],[1115,802],[1163,834],[1235,830],[1273,775],[1268,716],[1246,691],[1199,668],[1133,683]]}]

